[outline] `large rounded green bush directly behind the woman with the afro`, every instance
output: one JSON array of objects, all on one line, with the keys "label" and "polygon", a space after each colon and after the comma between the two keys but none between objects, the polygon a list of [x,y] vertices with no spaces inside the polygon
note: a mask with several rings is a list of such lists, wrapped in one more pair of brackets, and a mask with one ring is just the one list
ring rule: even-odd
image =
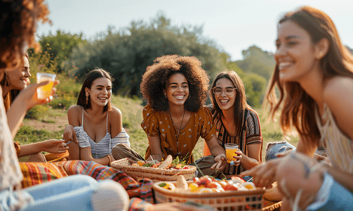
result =
[{"label": "large rounded green bush directly behind the woman with the afro", "polygon": [[79,68],[79,78],[95,67],[108,70],[116,79],[114,93],[128,96],[141,96],[142,74],[156,57],[167,54],[196,56],[212,81],[225,65],[213,41],[201,34],[202,27],[173,26],[159,13],[149,24],[133,21],[119,32],[109,27],[95,41],[75,48],[72,63]]}]

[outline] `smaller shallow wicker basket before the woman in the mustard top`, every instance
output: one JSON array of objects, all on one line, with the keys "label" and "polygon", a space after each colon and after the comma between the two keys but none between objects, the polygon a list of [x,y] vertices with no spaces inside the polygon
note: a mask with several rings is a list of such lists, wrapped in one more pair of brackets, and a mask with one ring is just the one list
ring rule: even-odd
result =
[{"label": "smaller shallow wicker basket before the woman in the mustard top", "polygon": [[177,176],[180,174],[187,180],[193,179],[195,177],[195,170],[197,169],[197,167],[190,165],[187,166],[187,170],[163,170],[152,167],[134,166],[130,165],[128,158],[113,161],[110,165],[136,180],[148,178],[152,181],[176,181]]}]

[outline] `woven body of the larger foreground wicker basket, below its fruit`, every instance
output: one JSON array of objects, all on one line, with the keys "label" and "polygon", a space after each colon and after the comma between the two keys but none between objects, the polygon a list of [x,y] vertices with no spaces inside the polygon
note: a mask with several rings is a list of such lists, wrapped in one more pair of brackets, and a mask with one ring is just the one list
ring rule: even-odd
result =
[{"label": "woven body of the larger foreground wicker basket, below its fruit", "polygon": [[[247,191],[224,191],[220,193],[192,193],[188,191],[170,191],[161,188],[156,182],[153,184],[154,198],[156,203],[192,201],[202,205],[216,207],[218,210],[262,210],[262,195],[264,188],[255,188]],[[176,184],[175,181],[172,182]],[[188,184],[192,181],[187,181]]]}]

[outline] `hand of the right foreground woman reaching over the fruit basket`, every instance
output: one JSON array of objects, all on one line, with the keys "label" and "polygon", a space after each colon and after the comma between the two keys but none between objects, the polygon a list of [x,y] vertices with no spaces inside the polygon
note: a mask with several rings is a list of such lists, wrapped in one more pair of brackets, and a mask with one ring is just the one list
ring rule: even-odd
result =
[{"label": "hand of the right foreground woman reaching over the fruit basket", "polygon": [[258,187],[271,188],[276,177],[277,167],[283,158],[276,158],[256,165],[251,170],[241,172],[239,177],[251,176],[253,183]]}]

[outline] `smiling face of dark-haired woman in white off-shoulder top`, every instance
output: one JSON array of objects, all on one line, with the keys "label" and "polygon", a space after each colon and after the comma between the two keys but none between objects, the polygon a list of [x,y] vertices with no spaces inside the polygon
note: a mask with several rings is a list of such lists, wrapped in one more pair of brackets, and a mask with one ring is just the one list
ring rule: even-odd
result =
[{"label": "smiling face of dark-haired woman in white off-shoulder top", "polygon": [[91,89],[85,88],[86,94],[89,93],[91,106],[106,106],[112,96],[112,82],[106,77],[95,79]]}]

